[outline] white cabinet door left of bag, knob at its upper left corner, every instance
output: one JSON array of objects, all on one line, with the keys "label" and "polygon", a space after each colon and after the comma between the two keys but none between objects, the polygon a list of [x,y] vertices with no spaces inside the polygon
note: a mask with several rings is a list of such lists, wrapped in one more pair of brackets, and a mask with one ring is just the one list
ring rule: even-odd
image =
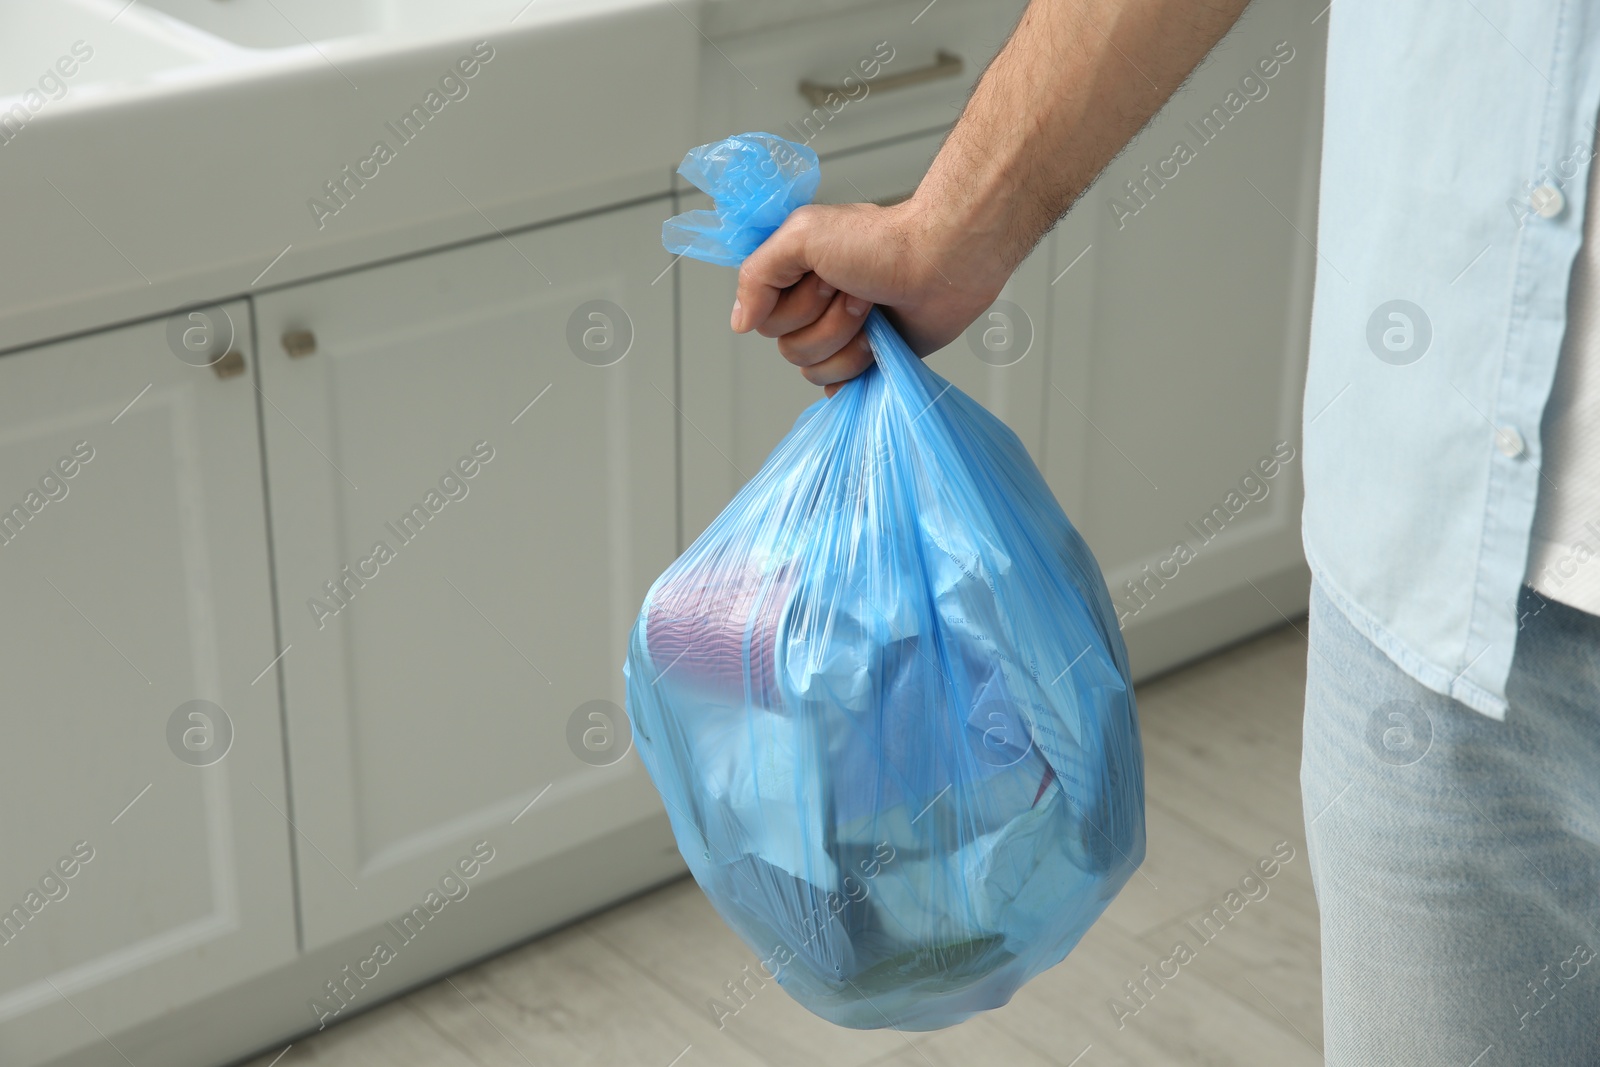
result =
[{"label": "white cabinet door left of bag, knob at its upper left corner", "polygon": [[675,550],[667,208],[258,302],[309,949],[661,813],[621,667]]}]

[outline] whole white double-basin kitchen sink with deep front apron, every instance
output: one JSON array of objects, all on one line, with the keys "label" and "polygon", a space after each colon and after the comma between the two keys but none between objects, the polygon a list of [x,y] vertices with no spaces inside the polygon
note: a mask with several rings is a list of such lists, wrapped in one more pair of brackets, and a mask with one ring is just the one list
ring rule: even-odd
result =
[{"label": "whole white double-basin kitchen sink with deep front apron", "polygon": [[662,195],[698,2],[0,0],[0,350]]}]

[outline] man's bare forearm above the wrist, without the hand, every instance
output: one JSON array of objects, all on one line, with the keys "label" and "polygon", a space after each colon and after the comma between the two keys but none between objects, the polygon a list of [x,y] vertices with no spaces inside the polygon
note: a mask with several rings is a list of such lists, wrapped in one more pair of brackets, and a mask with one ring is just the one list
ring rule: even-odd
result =
[{"label": "man's bare forearm above the wrist, without the hand", "polygon": [[1010,277],[1246,5],[1032,0],[917,189],[930,237]]}]

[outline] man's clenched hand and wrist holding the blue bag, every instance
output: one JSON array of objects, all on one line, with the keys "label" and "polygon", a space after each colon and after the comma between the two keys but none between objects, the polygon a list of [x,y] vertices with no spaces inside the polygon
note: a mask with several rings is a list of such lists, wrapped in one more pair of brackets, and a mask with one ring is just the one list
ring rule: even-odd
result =
[{"label": "man's clenched hand and wrist holding the blue bag", "polygon": [[829,397],[872,363],[862,326],[874,304],[917,355],[942,349],[994,302],[1005,274],[963,258],[938,222],[915,197],[795,210],[739,269],[733,330],[778,338]]}]

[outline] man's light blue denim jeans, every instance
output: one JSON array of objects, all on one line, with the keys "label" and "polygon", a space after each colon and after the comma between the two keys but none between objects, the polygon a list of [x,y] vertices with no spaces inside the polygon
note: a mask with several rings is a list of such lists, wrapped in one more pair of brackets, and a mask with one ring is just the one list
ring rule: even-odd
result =
[{"label": "man's light blue denim jeans", "polygon": [[1494,721],[1314,585],[1301,792],[1328,1067],[1600,1064],[1600,617],[1522,590]]}]

